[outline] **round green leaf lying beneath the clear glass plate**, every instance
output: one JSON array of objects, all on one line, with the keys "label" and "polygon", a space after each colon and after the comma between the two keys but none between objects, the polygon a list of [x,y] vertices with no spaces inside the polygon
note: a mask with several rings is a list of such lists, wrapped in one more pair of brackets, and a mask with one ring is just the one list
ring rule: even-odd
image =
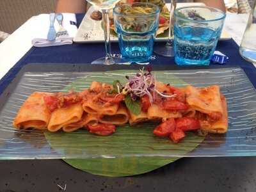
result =
[{"label": "round green leaf lying beneath the clear glass plate", "polygon": [[[135,74],[135,70],[116,70],[113,72],[92,72],[83,79],[77,79],[65,90],[81,91],[88,88],[92,81],[112,83],[118,79],[125,83],[125,76]],[[186,84],[182,79],[155,71],[157,81],[174,86]],[[182,154],[195,149],[204,137],[189,132],[180,143],[174,144],[168,138],[158,138],[152,134],[154,123],[124,125],[111,136],[97,136],[86,130],[76,132],[45,132],[45,138],[56,152],[65,156],[73,154],[84,159],[63,159],[74,168],[95,175],[123,177],[147,173],[168,163],[176,161]],[[179,154],[179,157],[172,157]],[[170,155],[171,154],[171,155]]]}]

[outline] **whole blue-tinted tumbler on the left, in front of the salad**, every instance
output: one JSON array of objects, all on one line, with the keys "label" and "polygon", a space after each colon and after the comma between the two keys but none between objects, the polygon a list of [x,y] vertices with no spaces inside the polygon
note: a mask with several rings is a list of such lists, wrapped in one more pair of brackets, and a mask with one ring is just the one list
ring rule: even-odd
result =
[{"label": "whole blue-tinted tumbler on the left, in front of the salad", "polygon": [[151,3],[122,4],[114,8],[115,30],[122,58],[148,61],[159,22],[159,7]]}]

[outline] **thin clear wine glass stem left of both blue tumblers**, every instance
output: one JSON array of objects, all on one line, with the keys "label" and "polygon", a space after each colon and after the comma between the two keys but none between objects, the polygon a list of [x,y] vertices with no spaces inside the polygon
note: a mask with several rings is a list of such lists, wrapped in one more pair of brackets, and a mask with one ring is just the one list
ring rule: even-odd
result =
[{"label": "thin clear wine glass stem left of both blue tumblers", "polygon": [[104,30],[104,40],[106,48],[105,64],[113,64],[113,58],[111,56],[111,46],[110,46],[110,28],[109,28],[109,10],[102,10],[103,19],[103,30]]}]

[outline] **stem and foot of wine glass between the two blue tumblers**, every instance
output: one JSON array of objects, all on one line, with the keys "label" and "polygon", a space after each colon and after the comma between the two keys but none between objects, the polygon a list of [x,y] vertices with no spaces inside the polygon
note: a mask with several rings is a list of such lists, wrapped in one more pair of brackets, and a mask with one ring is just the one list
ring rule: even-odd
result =
[{"label": "stem and foot of wine glass between the two blue tumblers", "polygon": [[177,0],[171,0],[170,9],[170,20],[169,20],[169,31],[168,31],[168,41],[165,46],[162,44],[156,44],[154,46],[154,52],[161,56],[173,57],[174,47],[173,47],[173,26],[174,26],[174,10],[176,9]]}]

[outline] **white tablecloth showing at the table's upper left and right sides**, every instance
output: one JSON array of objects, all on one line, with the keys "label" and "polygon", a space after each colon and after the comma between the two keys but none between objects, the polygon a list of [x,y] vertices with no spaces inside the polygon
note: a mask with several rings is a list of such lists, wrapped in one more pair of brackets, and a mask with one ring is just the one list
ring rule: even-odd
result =
[{"label": "white tablecloth showing at the table's upper left and right sides", "polygon": [[[0,44],[0,79],[31,49],[31,40],[36,37],[33,31],[40,24],[42,16],[31,17]],[[241,43],[247,20],[246,14],[227,13],[224,28],[238,45]]]}]

